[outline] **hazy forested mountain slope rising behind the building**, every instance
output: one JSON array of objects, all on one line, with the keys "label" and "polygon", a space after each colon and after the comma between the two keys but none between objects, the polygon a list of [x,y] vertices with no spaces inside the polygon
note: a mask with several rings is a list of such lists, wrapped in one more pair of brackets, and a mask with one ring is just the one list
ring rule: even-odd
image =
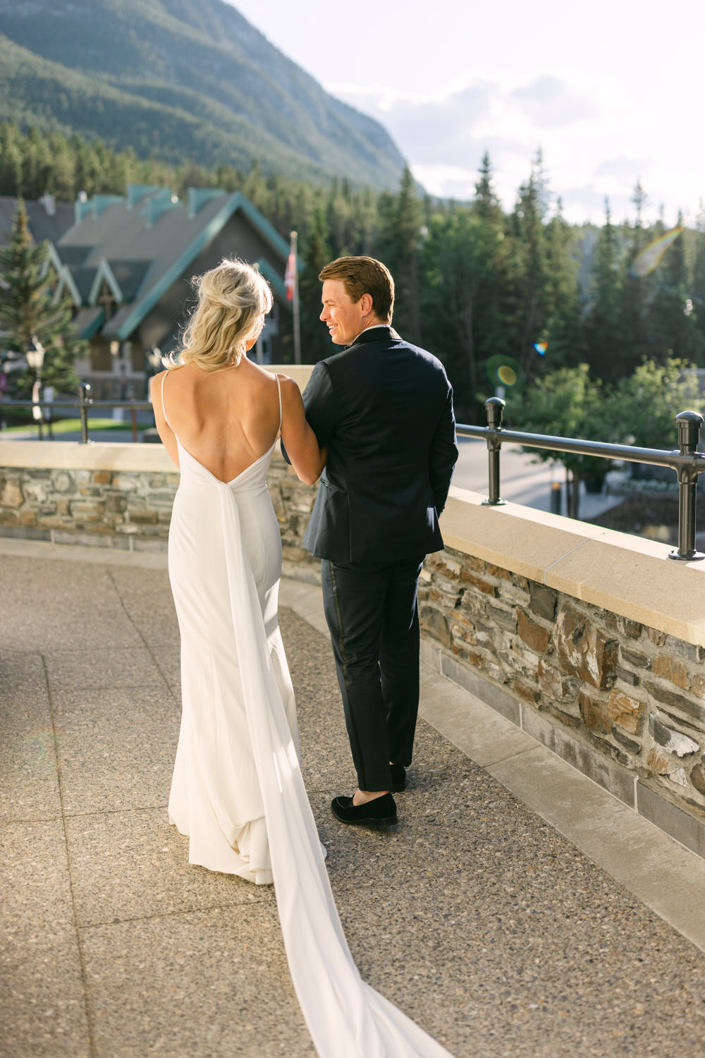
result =
[{"label": "hazy forested mountain slope rising behind the building", "polygon": [[0,121],[316,182],[395,187],[404,167],[223,0],[0,0]]}]

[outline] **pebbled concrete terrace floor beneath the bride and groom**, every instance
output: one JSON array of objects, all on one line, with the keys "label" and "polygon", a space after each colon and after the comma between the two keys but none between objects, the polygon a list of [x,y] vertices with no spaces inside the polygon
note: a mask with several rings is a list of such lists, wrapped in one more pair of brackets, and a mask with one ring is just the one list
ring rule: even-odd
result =
[{"label": "pebbled concrete terrace floor beneath the bride and groom", "polygon": [[[314,1054],[273,890],[189,867],[167,822],[164,567],[0,541],[6,1058]],[[398,825],[342,827],[329,802],[353,779],[318,590],[282,582],[281,603],[364,978],[457,1058],[705,1054],[704,861],[425,667]]]}]

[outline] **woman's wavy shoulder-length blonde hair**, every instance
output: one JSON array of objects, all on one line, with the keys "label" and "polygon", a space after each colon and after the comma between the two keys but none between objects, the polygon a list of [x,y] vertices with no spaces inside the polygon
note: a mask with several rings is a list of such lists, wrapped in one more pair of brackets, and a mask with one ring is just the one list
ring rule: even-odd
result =
[{"label": "woman's wavy shoulder-length blonde hair", "polygon": [[217,371],[238,364],[247,342],[257,340],[272,308],[272,291],[257,266],[225,257],[217,268],[193,276],[198,305],[182,335],[178,359],[167,367],[198,364]]}]

